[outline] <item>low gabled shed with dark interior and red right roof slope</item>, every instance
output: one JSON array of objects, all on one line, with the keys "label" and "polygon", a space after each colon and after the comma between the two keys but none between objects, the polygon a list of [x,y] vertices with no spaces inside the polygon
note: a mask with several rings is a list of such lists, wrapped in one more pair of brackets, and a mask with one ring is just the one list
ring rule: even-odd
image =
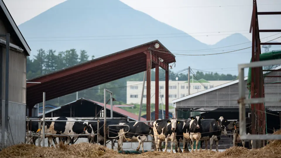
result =
[{"label": "low gabled shed with dark interior and red right roof slope", "polygon": [[[110,105],[107,104],[106,116],[110,116]],[[80,98],[63,106],[48,110],[45,112],[46,117],[69,117],[73,119],[94,119],[94,118],[104,118],[103,114],[104,104],[96,102],[86,98]],[[138,115],[128,112],[119,107],[113,106],[113,118],[120,118],[128,121],[138,121]],[[43,114],[39,114],[42,117]],[[141,117],[140,121],[145,121],[146,119]]]}]

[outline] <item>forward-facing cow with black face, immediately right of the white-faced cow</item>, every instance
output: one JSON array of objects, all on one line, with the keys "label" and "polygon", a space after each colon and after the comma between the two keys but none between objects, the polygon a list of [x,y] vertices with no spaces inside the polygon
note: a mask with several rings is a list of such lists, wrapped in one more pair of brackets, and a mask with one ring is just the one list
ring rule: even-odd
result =
[{"label": "forward-facing cow with black face, immediately right of the white-faced cow", "polygon": [[199,144],[199,141],[201,139],[201,133],[202,133],[202,125],[201,125],[201,120],[203,120],[205,117],[204,116],[195,116],[195,117],[191,117],[191,120],[186,120],[184,122],[184,128],[183,128],[183,134],[184,134],[184,148],[185,148],[185,144],[186,144],[186,140],[190,140],[191,141],[191,151],[193,152],[193,142],[196,140],[196,151],[197,151],[197,147]]}]

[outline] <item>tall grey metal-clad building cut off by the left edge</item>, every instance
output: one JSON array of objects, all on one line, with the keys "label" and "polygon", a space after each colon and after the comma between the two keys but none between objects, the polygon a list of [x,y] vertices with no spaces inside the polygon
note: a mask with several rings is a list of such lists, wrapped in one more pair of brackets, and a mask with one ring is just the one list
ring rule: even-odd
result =
[{"label": "tall grey metal-clad building cut off by the left edge", "polygon": [[30,48],[0,0],[0,148],[25,140],[26,58]]}]

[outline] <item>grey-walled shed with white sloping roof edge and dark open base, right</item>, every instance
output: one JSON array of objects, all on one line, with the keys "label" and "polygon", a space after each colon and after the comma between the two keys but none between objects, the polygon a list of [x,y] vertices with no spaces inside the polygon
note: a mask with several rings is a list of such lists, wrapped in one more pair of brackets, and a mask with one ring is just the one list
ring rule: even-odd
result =
[{"label": "grey-walled shed with white sloping roof edge and dark open base, right", "polygon": [[[281,66],[277,66],[267,74],[268,77],[264,78],[264,92],[265,97],[279,98],[281,95],[280,83]],[[245,94],[249,96],[249,90],[247,87],[247,79],[245,82]],[[268,83],[268,84],[266,84]],[[238,80],[225,83],[207,90],[203,90],[198,93],[194,93],[189,96],[181,97],[173,100],[176,107],[176,116],[181,118],[190,114],[190,111],[199,111],[201,116],[205,116],[206,119],[217,119],[223,116],[228,121],[239,119],[239,107],[237,100],[239,99],[238,92]],[[267,133],[272,133],[274,129],[280,129],[280,108],[281,103],[266,103],[266,124]],[[186,113],[186,114],[185,114]],[[251,110],[249,106],[246,106],[246,117],[250,115]],[[190,116],[189,116],[190,117]],[[275,120],[275,121],[272,121]]]}]

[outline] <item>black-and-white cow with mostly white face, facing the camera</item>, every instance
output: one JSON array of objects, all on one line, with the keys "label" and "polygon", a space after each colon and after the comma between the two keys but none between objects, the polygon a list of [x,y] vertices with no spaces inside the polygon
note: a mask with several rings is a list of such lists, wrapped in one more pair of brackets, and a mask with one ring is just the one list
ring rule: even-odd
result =
[{"label": "black-and-white cow with mostly white face, facing the camera", "polygon": [[155,140],[157,151],[159,151],[160,142],[165,140],[164,152],[167,152],[168,141],[171,141],[171,152],[173,152],[173,143],[177,141],[176,139],[177,133],[175,130],[177,128],[177,123],[180,122],[181,121],[175,118],[156,120],[153,122],[153,133],[154,133],[154,140]]}]

